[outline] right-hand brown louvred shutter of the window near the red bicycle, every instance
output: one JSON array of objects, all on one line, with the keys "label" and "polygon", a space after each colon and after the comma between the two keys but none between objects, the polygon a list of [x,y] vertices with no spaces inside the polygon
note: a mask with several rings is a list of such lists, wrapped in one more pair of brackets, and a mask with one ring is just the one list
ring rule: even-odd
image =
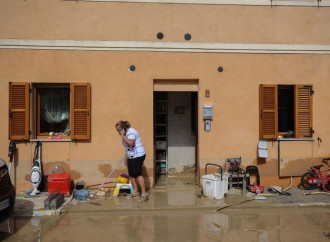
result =
[{"label": "right-hand brown louvred shutter of the window near the red bicycle", "polygon": [[312,137],[312,86],[295,86],[295,137]]}]

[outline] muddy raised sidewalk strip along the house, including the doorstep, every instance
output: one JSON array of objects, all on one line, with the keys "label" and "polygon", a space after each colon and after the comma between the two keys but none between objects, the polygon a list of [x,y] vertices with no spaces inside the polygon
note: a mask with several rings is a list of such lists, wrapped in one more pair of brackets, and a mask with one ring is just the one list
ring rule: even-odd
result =
[{"label": "muddy raised sidewalk strip along the house, including the doorstep", "polygon": [[[254,194],[241,189],[233,189],[225,198],[215,200],[201,196],[201,188],[194,185],[194,178],[178,177],[166,181],[166,186],[149,191],[149,201],[138,203],[137,198],[129,198],[126,193],[118,197],[99,196],[98,199],[78,201],[72,197],[66,198],[64,206],[58,210],[44,210],[43,197],[16,199],[14,216],[43,216],[63,213],[92,213],[92,212],[142,212],[142,211],[171,211],[171,210],[216,210],[221,208],[240,207],[299,207],[299,206],[330,206],[330,194],[306,195],[308,192],[297,187],[291,187],[287,192],[291,196],[276,195],[262,196],[251,200]],[[114,189],[112,188],[111,191]],[[265,193],[269,194],[267,188]]]}]

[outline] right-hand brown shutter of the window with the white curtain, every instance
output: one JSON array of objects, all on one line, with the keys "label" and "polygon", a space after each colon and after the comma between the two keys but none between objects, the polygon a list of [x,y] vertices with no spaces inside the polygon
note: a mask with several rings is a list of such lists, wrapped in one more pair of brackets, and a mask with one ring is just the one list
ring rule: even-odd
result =
[{"label": "right-hand brown shutter of the window with the white curtain", "polygon": [[90,83],[71,83],[71,138],[91,138],[91,87]]}]

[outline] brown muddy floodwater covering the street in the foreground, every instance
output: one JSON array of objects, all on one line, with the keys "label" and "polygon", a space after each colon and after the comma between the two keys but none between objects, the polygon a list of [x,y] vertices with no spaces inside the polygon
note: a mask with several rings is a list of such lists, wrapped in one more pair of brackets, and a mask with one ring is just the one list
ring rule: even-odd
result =
[{"label": "brown muddy floodwater covering the street in the foreground", "polygon": [[0,241],[329,242],[330,208],[71,213],[11,218],[0,231]]}]

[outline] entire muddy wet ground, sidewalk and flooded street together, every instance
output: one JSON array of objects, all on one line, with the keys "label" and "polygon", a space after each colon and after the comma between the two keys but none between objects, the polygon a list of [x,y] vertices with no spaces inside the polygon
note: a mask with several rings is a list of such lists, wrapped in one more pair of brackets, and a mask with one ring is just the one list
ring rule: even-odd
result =
[{"label": "entire muddy wet ground, sidewalk and flooded street together", "polygon": [[200,192],[181,177],[150,190],[145,203],[120,193],[66,198],[64,207],[44,210],[46,197],[18,197],[14,216],[0,224],[0,241],[330,241],[329,194],[304,196],[310,191],[291,187],[291,196],[251,200],[234,189],[214,200]]}]

